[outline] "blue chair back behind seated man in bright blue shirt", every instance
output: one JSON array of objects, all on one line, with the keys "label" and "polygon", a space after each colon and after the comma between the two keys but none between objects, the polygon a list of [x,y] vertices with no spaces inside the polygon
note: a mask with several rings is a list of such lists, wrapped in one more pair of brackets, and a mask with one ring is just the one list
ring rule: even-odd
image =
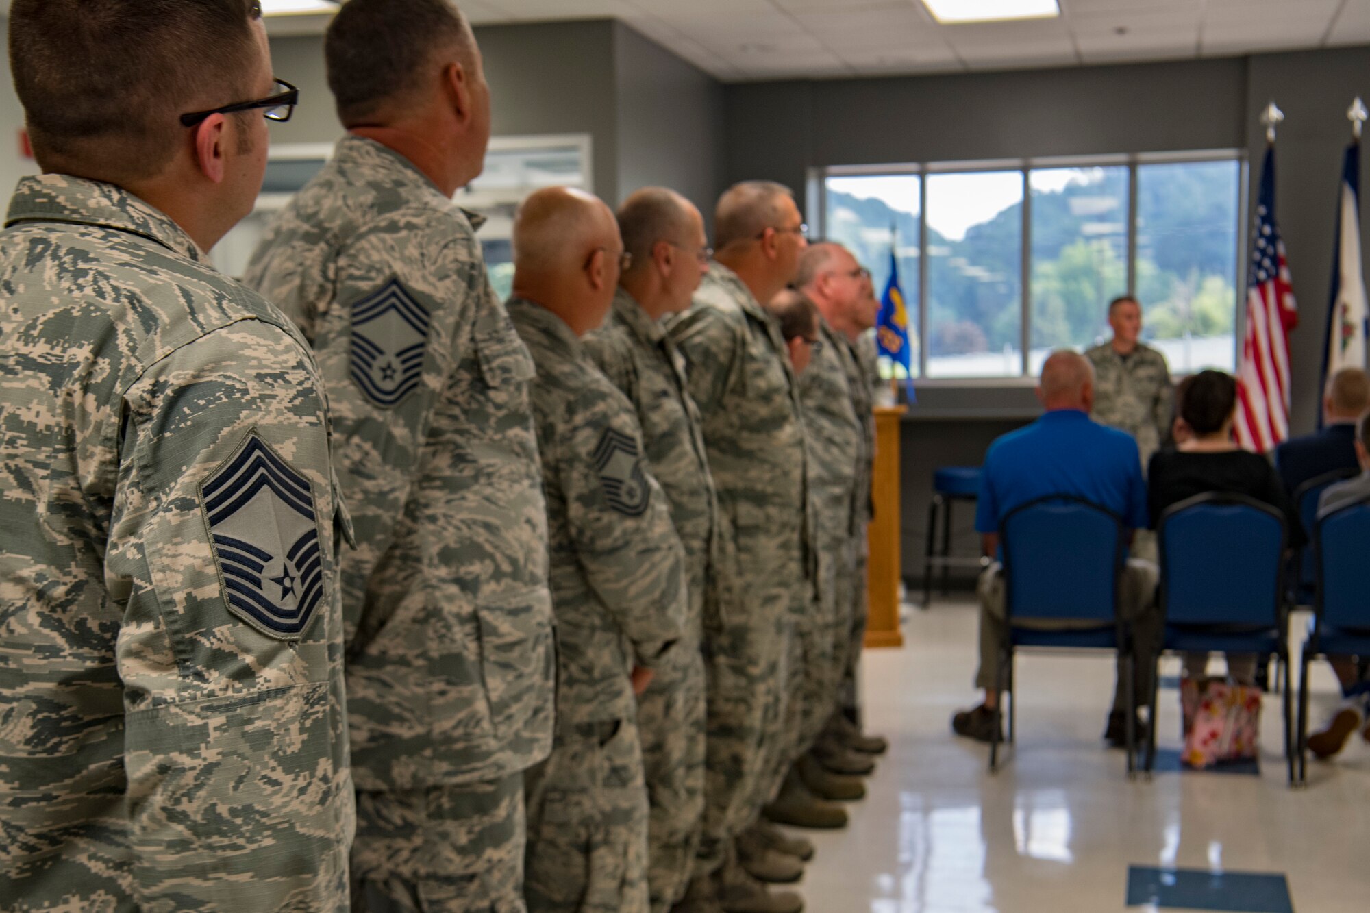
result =
[{"label": "blue chair back behind seated man in bright blue shirt", "polygon": [[1008,618],[1112,624],[1122,572],[1122,518],[1071,495],[1048,495],[1003,518]]}]

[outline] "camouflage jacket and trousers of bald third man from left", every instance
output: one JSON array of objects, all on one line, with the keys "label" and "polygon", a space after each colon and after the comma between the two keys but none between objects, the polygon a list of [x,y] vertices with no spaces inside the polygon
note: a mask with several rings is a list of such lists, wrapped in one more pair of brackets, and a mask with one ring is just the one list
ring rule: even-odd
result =
[{"label": "camouflage jacket and trousers of bald third man from left", "polygon": [[537,365],[556,610],[552,757],[527,777],[534,913],[645,913],[648,805],[632,668],[674,670],[685,554],[645,472],[633,404],[551,311],[511,299]]}]

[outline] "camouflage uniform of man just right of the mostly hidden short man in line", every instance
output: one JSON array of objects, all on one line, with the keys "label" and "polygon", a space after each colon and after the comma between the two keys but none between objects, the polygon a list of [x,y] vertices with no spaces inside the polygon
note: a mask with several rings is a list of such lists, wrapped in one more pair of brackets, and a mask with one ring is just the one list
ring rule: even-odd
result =
[{"label": "camouflage uniform of man just right of the mostly hidden short man in line", "polygon": [[817,518],[818,611],[801,620],[807,655],[790,694],[803,695],[796,720],[797,751],[807,751],[837,709],[838,690],[851,650],[856,576],[858,467],[864,429],[852,407],[847,340],[819,318],[822,347],[799,376],[804,407],[808,488]]}]

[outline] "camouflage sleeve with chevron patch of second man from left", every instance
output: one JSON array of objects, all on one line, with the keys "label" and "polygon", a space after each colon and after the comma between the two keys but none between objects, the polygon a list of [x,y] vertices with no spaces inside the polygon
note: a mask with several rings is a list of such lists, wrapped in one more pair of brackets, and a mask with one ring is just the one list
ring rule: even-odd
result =
[{"label": "camouflage sleeve with chevron patch of second man from left", "polygon": [[[474,239],[470,240],[475,244]],[[336,292],[315,348],[341,446],[337,470],[358,550],[342,568],[347,637],[366,642],[386,618],[363,618],[373,576],[395,546],[422,472],[423,441],[489,295],[485,269],[430,210],[399,210],[358,233],[333,266]],[[370,348],[367,348],[370,347]]]}]

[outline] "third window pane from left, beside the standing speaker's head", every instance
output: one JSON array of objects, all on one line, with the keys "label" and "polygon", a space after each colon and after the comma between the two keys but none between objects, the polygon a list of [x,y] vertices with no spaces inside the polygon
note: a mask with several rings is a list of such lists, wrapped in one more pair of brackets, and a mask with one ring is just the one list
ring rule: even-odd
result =
[{"label": "third window pane from left, beside the standing speaker's head", "polygon": [[1108,337],[1104,302],[1128,292],[1128,169],[1033,169],[1032,350],[1037,374],[1051,350]]}]

